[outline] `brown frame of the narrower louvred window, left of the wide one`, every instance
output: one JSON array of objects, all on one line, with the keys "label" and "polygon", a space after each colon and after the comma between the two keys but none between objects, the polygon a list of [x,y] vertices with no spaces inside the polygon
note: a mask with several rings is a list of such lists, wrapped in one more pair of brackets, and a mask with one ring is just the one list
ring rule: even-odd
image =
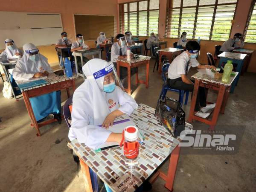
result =
[{"label": "brown frame of the narrower louvred window, left of the wide one", "polygon": [[[147,1],[147,9],[146,10],[139,10],[139,2],[141,1]],[[127,29],[128,31],[130,31],[130,3],[137,3],[137,10],[136,11],[131,11],[131,13],[137,13],[137,35],[136,36],[140,36],[140,37],[148,37],[149,34],[149,13],[151,11],[158,11],[158,27],[157,27],[157,34],[159,32],[159,11],[160,11],[160,0],[159,0],[159,8],[158,9],[149,9],[149,2],[150,0],[137,0],[137,1],[131,1],[131,2],[127,2],[127,3],[120,3],[119,4],[119,32],[120,33],[124,33],[125,32],[125,24],[124,24],[124,16],[125,13],[127,13],[127,19],[128,19],[128,23],[127,23]],[[124,10],[124,5],[127,4],[127,12],[125,12]],[[146,36],[141,36],[139,35],[139,15],[140,12],[147,12],[147,29],[146,29]]]}]

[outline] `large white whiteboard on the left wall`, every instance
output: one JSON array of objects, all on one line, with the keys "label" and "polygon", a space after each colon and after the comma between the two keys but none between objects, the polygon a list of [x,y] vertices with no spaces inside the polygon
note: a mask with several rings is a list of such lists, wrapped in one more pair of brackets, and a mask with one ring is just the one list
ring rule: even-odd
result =
[{"label": "large white whiteboard on the left wall", "polygon": [[7,38],[17,47],[55,44],[63,32],[60,14],[0,12],[0,18],[0,49],[5,49]]}]

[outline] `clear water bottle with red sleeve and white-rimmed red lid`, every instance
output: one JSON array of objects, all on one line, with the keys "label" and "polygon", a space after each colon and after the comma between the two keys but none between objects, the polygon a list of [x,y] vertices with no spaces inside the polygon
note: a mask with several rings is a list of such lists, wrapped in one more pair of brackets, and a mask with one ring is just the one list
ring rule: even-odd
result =
[{"label": "clear water bottle with red sleeve and white-rimmed red lid", "polygon": [[138,128],[135,126],[128,126],[124,130],[124,155],[125,155],[125,167],[129,171],[134,171],[138,166],[138,154],[139,154],[139,140],[138,140]]}]

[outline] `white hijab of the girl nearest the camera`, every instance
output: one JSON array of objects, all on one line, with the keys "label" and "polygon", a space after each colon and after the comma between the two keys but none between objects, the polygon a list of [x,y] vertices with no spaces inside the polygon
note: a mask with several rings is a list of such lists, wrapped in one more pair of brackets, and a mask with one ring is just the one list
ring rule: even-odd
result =
[{"label": "white hijab of the girl nearest the camera", "polygon": [[106,93],[103,91],[104,76],[94,79],[93,73],[108,67],[110,64],[107,61],[95,58],[88,61],[82,68],[87,79],[84,80],[83,88],[76,94],[76,98],[87,97],[83,101],[88,102],[88,105],[93,105],[93,110],[88,110],[88,112],[89,116],[93,117],[94,125],[101,125],[110,110],[106,101]]}]

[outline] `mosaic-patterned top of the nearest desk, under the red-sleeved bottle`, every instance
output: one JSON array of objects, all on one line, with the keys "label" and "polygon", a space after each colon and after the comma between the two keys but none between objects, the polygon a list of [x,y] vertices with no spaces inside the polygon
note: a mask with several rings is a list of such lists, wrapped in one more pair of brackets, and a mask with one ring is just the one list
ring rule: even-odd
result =
[{"label": "mosaic-patterned top of the nearest desk, under the red-sleeved bottle", "polygon": [[[174,148],[180,143],[180,139],[175,139],[154,117],[154,108],[140,104],[137,110],[130,116],[120,116],[117,120],[131,119],[140,132],[145,137],[144,145],[140,145],[138,158],[138,168],[133,175],[140,186],[158,166],[171,154]],[[192,125],[186,124],[186,130],[190,131]],[[130,173],[125,169],[125,157],[123,148],[107,149],[95,152],[84,143],[79,143],[76,139],[68,144],[75,153],[84,161],[98,177],[108,184],[114,192],[118,192],[121,178]],[[129,188],[126,192],[133,192],[134,188]]]}]

